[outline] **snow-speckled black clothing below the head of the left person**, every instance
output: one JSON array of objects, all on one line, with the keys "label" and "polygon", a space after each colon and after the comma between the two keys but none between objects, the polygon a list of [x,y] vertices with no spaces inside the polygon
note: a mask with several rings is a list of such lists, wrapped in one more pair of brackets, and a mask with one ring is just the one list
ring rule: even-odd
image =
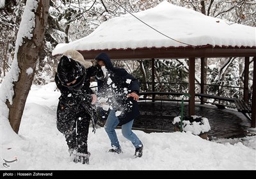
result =
[{"label": "snow-speckled black clothing below the head of the left person", "polygon": [[100,67],[91,66],[85,69],[83,87],[77,91],[61,84],[58,75],[55,82],[61,91],[57,109],[57,128],[65,135],[68,148],[76,149],[79,153],[88,153],[87,139],[90,120],[97,123],[95,105],[92,105],[92,89],[90,77],[103,75]]}]

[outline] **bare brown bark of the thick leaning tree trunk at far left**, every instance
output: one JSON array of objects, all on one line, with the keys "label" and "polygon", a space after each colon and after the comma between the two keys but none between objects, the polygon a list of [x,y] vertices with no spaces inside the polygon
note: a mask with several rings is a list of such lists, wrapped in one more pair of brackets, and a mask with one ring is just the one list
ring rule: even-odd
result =
[{"label": "bare brown bark of the thick leaning tree trunk at far left", "polygon": [[36,60],[44,44],[44,32],[47,24],[50,0],[38,0],[38,8],[35,12],[35,28],[31,39],[23,38],[23,43],[17,52],[18,66],[20,68],[19,79],[13,82],[13,103],[7,100],[6,105],[10,109],[9,121],[13,130],[18,134],[20,121],[28,97],[29,89],[35,75]]}]

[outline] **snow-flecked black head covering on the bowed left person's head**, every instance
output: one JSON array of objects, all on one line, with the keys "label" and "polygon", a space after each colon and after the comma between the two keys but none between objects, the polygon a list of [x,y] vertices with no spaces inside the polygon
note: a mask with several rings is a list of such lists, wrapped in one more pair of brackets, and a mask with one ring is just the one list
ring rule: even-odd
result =
[{"label": "snow-flecked black head covering on the bowed left person's head", "polygon": [[67,86],[67,83],[70,83],[75,79],[77,79],[77,82],[67,87],[74,88],[81,86],[84,82],[85,73],[86,71],[81,63],[72,58],[68,58],[67,56],[61,57],[57,67],[57,74],[63,86]]}]

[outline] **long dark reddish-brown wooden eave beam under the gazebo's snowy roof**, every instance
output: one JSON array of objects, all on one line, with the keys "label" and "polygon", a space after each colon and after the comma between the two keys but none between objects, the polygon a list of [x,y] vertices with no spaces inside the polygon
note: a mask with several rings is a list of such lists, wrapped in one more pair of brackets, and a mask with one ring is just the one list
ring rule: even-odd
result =
[{"label": "long dark reddish-brown wooden eave beam under the gazebo's snowy roof", "polygon": [[[256,56],[256,48],[221,47],[163,47],[145,49],[112,49],[97,51],[79,51],[84,59],[94,59],[100,52],[106,52],[113,60],[124,59],[172,59],[172,58],[227,58]],[[60,56],[56,54],[55,56]]]}]

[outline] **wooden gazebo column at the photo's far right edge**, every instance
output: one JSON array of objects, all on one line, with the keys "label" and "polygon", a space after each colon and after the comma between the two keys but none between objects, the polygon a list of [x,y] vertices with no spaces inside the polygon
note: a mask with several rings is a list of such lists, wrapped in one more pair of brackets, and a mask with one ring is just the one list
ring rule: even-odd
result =
[{"label": "wooden gazebo column at the photo's far right edge", "polygon": [[252,123],[256,127],[256,56],[253,58],[253,85],[252,85]]}]

